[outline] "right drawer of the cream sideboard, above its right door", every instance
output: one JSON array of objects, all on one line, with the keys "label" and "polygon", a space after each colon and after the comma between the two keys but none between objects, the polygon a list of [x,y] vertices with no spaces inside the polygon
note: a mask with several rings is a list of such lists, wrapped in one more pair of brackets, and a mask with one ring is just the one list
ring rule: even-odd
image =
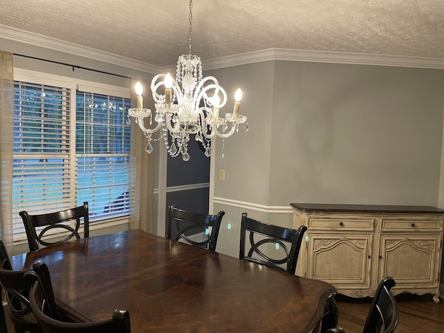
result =
[{"label": "right drawer of the cream sideboard, above its right door", "polygon": [[443,228],[442,219],[381,219],[381,231],[437,231]]}]

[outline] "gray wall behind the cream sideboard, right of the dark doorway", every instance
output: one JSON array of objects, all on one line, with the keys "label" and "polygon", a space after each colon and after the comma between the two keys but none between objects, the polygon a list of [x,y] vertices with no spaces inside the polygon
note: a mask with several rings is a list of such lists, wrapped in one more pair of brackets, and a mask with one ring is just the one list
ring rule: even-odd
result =
[{"label": "gray wall behind the cream sideboard, right of the dark doorway", "polygon": [[212,207],[226,213],[218,252],[238,255],[241,212],[291,226],[289,203],[438,205],[444,71],[270,61],[205,75],[229,96],[241,86],[249,127],[213,155],[214,197],[240,202]]}]

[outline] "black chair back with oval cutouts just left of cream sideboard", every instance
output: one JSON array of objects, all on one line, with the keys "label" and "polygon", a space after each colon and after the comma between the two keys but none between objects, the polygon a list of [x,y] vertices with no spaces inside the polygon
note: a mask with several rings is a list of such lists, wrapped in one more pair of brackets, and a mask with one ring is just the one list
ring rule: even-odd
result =
[{"label": "black chair back with oval cutouts just left of cream sideboard", "polygon": [[[307,230],[305,225],[297,230],[271,225],[255,219],[250,219],[247,213],[242,213],[241,220],[241,244],[239,246],[239,259],[248,260],[264,266],[278,268],[288,273],[296,272],[302,237]],[[249,232],[250,248],[246,253],[246,234]],[[287,243],[287,244],[286,244]],[[282,248],[284,257],[276,259],[266,255],[264,245],[278,244]],[[290,246],[290,249],[287,246]],[[287,264],[287,269],[282,265]]]}]

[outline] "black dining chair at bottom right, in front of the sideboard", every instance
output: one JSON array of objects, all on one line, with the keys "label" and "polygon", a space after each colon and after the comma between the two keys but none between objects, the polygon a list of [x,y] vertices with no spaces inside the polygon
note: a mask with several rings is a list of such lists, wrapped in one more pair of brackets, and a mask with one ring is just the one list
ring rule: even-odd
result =
[{"label": "black dining chair at bottom right, in front of the sideboard", "polygon": [[[386,277],[379,282],[363,333],[395,332],[400,317],[398,304],[390,291],[395,284],[395,280],[391,277]],[[345,330],[334,327],[327,330],[327,333],[345,333]]]}]

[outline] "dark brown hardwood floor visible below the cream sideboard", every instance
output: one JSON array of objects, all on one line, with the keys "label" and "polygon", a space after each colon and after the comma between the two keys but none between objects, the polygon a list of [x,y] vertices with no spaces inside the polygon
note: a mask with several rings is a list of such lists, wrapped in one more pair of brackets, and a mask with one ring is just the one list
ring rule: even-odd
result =
[{"label": "dark brown hardwood floor visible below the cream sideboard", "polygon": [[[400,311],[396,332],[400,333],[444,333],[444,300],[435,304],[432,295],[395,296]],[[370,298],[348,298],[336,296],[339,308],[338,326],[346,333],[361,333],[370,309]]]}]

